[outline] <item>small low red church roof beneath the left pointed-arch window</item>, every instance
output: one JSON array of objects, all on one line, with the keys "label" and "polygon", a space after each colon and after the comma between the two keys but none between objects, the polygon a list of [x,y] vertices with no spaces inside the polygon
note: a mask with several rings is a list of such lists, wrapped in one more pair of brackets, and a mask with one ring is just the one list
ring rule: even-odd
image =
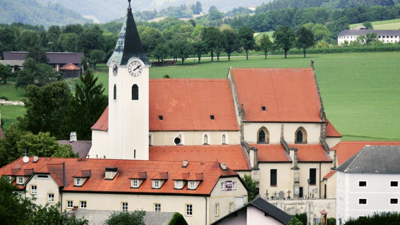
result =
[{"label": "small low red church roof beneath the left pointed-arch window", "polygon": [[289,154],[281,144],[250,144],[249,146],[258,149],[258,162],[292,162]]}]

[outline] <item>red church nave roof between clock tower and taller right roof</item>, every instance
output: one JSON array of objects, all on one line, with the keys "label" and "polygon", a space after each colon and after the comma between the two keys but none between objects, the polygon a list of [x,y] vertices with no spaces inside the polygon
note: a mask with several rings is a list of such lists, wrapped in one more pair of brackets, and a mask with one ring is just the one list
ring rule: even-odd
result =
[{"label": "red church nave roof between clock tower and taller right roof", "polygon": [[149,130],[239,130],[228,79],[151,79],[149,83]]}]

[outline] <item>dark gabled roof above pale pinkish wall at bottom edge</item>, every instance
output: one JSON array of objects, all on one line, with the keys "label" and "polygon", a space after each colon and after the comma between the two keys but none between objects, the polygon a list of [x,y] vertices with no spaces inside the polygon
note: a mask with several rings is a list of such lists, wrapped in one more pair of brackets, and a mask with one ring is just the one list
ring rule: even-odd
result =
[{"label": "dark gabled roof above pale pinkish wall at bottom edge", "polygon": [[[277,208],[276,206],[270,204],[268,201],[264,200],[261,197],[257,197],[256,199],[248,202],[245,206],[243,206],[241,209],[248,207],[249,205],[254,206],[255,208],[263,211],[264,213],[268,214],[272,218],[276,219],[277,221],[281,222],[282,224],[288,224],[289,221],[292,219],[292,216],[285,213],[281,209]],[[241,210],[238,209],[238,210]],[[238,211],[236,210],[236,211]],[[219,222],[222,222],[225,218],[229,217],[232,215],[234,212],[229,213],[228,215],[222,217],[221,219],[218,219],[217,221],[211,223],[211,224],[218,224]]]}]

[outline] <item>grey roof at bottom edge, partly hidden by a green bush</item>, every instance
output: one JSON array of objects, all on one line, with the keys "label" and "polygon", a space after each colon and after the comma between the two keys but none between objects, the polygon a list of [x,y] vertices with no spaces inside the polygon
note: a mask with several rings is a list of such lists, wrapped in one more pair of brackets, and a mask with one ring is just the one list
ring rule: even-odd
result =
[{"label": "grey roof at bottom edge, partly hidden by a green bush", "polygon": [[[85,217],[89,220],[89,225],[103,225],[113,212],[115,211],[78,209],[76,211],[69,211],[67,214],[75,214],[76,218]],[[145,224],[167,225],[173,215],[174,213],[171,212],[146,212]]]}]

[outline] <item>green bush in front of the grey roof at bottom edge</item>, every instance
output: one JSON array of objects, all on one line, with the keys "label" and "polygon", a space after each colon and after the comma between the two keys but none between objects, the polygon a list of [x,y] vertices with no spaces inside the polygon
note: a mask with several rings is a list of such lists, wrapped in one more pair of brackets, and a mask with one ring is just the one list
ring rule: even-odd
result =
[{"label": "green bush in front of the grey roof at bottom edge", "polygon": [[146,211],[113,212],[106,220],[107,225],[145,225]]}]

